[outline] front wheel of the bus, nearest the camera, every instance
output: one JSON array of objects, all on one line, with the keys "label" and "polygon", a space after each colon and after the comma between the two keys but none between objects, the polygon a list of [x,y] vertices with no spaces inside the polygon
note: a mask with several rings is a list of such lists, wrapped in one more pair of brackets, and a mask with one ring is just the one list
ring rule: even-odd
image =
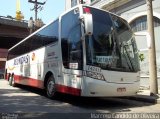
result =
[{"label": "front wheel of the bus, nearest the camera", "polygon": [[49,98],[53,99],[56,97],[56,87],[53,75],[48,78],[46,90]]}]

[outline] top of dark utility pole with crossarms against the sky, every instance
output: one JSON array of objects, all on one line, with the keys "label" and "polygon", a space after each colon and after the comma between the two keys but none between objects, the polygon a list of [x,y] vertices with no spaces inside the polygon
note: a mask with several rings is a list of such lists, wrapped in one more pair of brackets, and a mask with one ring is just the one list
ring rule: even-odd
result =
[{"label": "top of dark utility pole with crossarms against the sky", "polygon": [[42,7],[39,5],[44,5],[46,2],[38,2],[37,0],[28,0],[30,3],[34,3],[34,8],[32,10],[35,10],[35,21],[37,20],[37,14],[38,14],[38,9],[41,9]]}]

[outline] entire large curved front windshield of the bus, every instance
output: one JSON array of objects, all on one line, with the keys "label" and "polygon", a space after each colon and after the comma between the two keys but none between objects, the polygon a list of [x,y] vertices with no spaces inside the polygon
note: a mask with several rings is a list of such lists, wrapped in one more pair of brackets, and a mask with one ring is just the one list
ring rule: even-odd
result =
[{"label": "entire large curved front windshield of the bus", "polygon": [[120,17],[90,8],[93,34],[85,36],[86,63],[104,70],[139,71],[138,52],[128,23]]}]

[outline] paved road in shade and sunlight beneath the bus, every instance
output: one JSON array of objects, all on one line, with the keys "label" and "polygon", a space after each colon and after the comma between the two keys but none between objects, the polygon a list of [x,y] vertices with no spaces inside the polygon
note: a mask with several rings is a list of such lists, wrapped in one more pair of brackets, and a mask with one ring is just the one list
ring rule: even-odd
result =
[{"label": "paved road in shade and sunlight beneath the bus", "polygon": [[91,113],[160,113],[160,105],[126,98],[84,98],[62,94],[51,100],[42,90],[25,86],[14,88],[0,79],[0,112],[22,113],[23,117],[50,118],[54,114],[66,118],[66,114],[72,117],[74,113],[80,116],[90,116]]}]

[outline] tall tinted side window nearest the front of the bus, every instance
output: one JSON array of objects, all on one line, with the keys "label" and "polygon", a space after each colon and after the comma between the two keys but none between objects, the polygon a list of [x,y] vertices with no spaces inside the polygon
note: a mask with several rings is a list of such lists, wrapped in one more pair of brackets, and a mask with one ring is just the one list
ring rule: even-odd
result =
[{"label": "tall tinted side window nearest the front of the bus", "polygon": [[[77,9],[76,9],[77,11]],[[65,68],[70,68],[70,63],[77,63],[82,68],[82,42],[79,13],[74,10],[62,17],[62,58]]]}]

